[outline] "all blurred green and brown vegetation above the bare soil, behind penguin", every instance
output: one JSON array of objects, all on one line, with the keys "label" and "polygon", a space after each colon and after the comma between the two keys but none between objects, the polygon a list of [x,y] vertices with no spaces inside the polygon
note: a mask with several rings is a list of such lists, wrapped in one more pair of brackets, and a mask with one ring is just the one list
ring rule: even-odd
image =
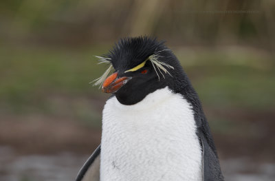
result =
[{"label": "all blurred green and brown vegetation above the bare soil, behind penguin", "polygon": [[144,34],[167,41],[208,109],[274,111],[274,17],[271,0],[3,0],[0,114],[100,125],[93,55]]}]

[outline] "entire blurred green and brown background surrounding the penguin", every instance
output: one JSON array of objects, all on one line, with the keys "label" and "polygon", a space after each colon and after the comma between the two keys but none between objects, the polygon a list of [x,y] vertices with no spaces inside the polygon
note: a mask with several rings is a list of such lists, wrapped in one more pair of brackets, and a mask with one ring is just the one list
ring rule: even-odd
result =
[{"label": "entire blurred green and brown background surrounding the penguin", "polygon": [[274,20],[272,0],[1,0],[0,180],[74,180],[109,96],[94,55],[145,34],[190,77],[226,180],[274,180]]}]

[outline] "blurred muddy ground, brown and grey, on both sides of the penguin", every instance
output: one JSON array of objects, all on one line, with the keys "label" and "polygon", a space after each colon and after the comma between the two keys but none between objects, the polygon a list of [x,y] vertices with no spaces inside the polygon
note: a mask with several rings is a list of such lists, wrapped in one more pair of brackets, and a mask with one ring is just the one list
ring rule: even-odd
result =
[{"label": "blurred muddy ground, brown and grey, on both sides of the penguin", "polygon": [[[226,180],[273,180],[275,142],[272,111],[206,111],[236,123],[233,132],[214,131]],[[215,124],[210,122],[215,130]],[[100,143],[97,127],[41,115],[1,116],[0,180],[74,180]]]}]

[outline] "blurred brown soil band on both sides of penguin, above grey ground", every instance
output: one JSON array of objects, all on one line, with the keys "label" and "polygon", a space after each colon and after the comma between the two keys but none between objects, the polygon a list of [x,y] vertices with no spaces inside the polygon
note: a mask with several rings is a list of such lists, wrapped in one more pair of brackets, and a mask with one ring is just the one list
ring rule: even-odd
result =
[{"label": "blurred brown soil band on both sides of penguin, above grey ground", "polygon": [[[213,113],[211,113],[213,114]],[[220,158],[248,157],[275,162],[275,112],[214,111],[236,123],[239,132],[214,133]],[[1,116],[0,145],[17,153],[91,153],[100,144],[99,128],[81,125],[76,120],[45,116]],[[241,132],[240,132],[241,130]]]}]

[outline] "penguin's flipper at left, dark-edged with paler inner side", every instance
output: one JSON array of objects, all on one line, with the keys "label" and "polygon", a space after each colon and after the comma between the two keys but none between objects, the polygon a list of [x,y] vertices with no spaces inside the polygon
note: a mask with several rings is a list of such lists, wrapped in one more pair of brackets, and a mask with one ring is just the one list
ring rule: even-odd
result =
[{"label": "penguin's flipper at left, dark-edged with paler inner side", "polygon": [[100,181],[100,145],[78,171],[76,181]]}]

